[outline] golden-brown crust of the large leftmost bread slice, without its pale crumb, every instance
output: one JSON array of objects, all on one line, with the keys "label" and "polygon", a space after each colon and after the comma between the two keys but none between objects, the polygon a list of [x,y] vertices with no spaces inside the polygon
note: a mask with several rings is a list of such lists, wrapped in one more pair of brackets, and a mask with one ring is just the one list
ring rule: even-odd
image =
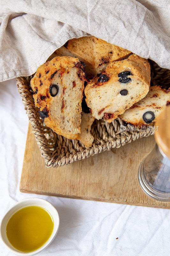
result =
[{"label": "golden-brown crust of the large leftmost bread slice, without its pale crumb", "polygon": [[[35,101],[35,106],[40,108],[40,114],[44,121],[44,123],[50,127],[54,132],[59,135],[63,135],[68,139],[77,139],[79,130],[74,133],[66,133],[61,127],[59,127],[53,116],[50,115],[50,104],[52,97],[49,93],[49,87],[53,84],[53,79],[57,74],[58,77],[62,77],[63,74],[69,72],[70,68],[77,68],[77,75],[82,81],[86,81],[86,76],[84,72],[84,64],[80,63],[77,58],[73,57],[55,57],[51,61],[48,61],[41,65],[38,69],[34,77],[31,79],[31,87],[33,89],[33,98]],[[80,88],[82,93],[84,89],[83,86]],[[63,92],[64,93],[64,92]],[[82,96],[83,97],[83,96]],[[82,98],[81,98],[82,100]],[[81,113],[81,109],[80,109]]]}]

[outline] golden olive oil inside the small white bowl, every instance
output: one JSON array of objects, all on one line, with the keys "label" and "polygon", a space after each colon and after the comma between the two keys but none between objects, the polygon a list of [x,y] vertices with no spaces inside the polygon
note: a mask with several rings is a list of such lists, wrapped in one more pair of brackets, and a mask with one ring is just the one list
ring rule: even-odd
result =
[{"label": "golden olive oil inside the small white bowl", "polygon": [[39,206],[14,213],[6,226],[11,245],[21,252],[33,252],[47,242],[54,228],[51,215]]}]

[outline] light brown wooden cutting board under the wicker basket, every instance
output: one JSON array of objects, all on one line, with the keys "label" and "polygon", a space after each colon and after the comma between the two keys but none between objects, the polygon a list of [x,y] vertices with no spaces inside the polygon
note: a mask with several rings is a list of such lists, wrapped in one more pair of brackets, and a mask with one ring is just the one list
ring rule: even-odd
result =
[{"label": "light brown wooden cutting board under the wicker basket", "polygon": [[70,165],[47,169],[31,131],[29,124],[21,192],[170,208],[170,202],[148,197],[140,188],[137,178],[141,160],[155,144],[153,136]]}]

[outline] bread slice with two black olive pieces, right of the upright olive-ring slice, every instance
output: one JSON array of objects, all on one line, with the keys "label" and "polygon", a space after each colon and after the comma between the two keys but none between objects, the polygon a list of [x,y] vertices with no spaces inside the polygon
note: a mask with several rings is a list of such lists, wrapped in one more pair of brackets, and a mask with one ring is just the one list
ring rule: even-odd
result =
[{"label": "bread slice with two black olive pieces, right of the upright olive-ring slice", "polygon": [[118,115],[144,98],[150,86],[150,64],[132,54],[128,59],[108,64],[99,77],[85,87],[87,106],[96,119],[111,123]]}]

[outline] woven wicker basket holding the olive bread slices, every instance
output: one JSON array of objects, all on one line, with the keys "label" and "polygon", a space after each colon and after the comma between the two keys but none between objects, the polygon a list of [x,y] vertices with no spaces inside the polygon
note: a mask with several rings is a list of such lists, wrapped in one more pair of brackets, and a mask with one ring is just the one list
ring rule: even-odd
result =
[{"label": "woven wicker basket holding the olive bread slices", "polygon": [[[170,70],[160,68],[153,61],[150,61],[150,64],[151,85],[158,84],[168,88]],[[31,77],[18,77],[16,80],[18,91],[21,94],[22,102],[46,167],[56,168],[64,164],[70,164],[111,148],[120,148],[126,143],[154,134],[154,127],[141,130],[129,124],[125,127],[121,126],[124,123],[120,118],[117,118],[111,124],[102,119],[95,120],[91,130],[94,142],[91,148],[86,148],[80,141],[69,140],[45,126],[38,114],[39,109],[34,105],[33,91],[30,86]],[[126,129],[121,129],[122,127]]]}]

